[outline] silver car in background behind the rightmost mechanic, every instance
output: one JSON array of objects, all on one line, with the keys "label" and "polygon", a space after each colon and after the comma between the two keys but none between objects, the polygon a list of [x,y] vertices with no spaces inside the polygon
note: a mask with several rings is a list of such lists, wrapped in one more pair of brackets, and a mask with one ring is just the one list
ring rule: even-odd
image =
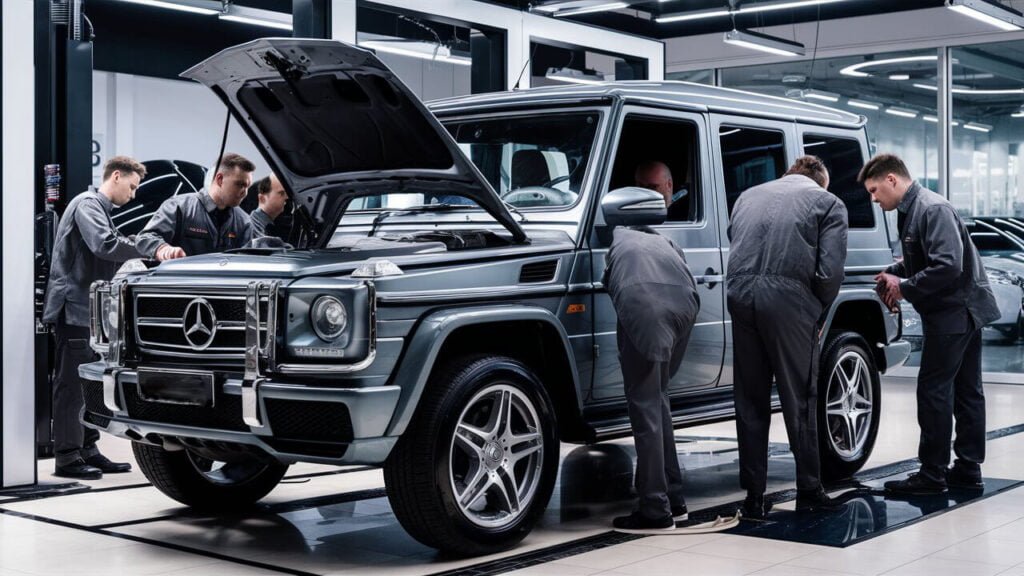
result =
[{"label": "silver car in background behind the rightmost mechanic", "polygon": [[[1024,241],[1001,230],[991,221],[994,219],[973,218],[965,223],[985,263],[989,286],[999,305],[999,319],[989,324],[985,333],[1016,342],[1024,338]],[[906,302],[901,307],[903,337],[914,351],[921,349],[924,337],[921,316]]]}]

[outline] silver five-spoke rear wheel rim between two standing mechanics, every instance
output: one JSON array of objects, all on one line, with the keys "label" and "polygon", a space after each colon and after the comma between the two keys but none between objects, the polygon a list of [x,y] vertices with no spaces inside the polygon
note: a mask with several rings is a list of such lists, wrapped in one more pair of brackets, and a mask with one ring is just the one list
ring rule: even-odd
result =
[{"label": "silver five-spoke rear wheel rim between two standing mechanics", "polygon": [[833,451],[846,461],[856,460],[874,418],[871,373],[860,354],[850,351],[840,357],[825,390],[825,425]]}]

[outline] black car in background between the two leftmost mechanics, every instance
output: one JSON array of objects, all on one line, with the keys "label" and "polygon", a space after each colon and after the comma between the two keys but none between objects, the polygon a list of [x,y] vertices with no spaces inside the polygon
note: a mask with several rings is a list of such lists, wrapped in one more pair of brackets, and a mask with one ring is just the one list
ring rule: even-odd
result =
[{"label": "black car in background between the two leftmost mechanics", "polygon": [[142,164],[145,178],[139,182],[135,198],[111,212],[114,225],[125,236],[142,232],[165,200],[198,191],[206,177],[205,167],[183,160],[147,160]]}]

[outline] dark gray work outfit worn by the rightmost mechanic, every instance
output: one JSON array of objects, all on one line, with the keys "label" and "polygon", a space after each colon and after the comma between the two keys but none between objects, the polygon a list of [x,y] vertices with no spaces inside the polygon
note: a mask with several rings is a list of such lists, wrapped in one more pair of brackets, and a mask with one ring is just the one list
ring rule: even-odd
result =
[{"label": "dark gray work outfit worn by the rightmost mechanic", "polygon": [[921,474],[945,482],[956,418],[956,464],[977,472],[985,460],[981,328],[999,318],[985,266],[956,210],[914,182],[899,211],[903,260],[886,271],[921,315],[925,345],[918,372]]}]

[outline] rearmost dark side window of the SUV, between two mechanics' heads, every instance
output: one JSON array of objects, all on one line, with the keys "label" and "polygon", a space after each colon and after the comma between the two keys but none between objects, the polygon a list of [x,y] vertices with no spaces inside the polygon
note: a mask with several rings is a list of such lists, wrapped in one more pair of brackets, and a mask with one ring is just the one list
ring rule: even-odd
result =
[{"label": "rearmost dark side window of the SUV, between two mechanics' heads", "polygon": [[825,163],[828,192],[846,204],[850,228],[874,228],[871,197],[857,182],[857,174],[864,165],[860,142],[855,138],[804,134],[804,154],[817,156]]}]

